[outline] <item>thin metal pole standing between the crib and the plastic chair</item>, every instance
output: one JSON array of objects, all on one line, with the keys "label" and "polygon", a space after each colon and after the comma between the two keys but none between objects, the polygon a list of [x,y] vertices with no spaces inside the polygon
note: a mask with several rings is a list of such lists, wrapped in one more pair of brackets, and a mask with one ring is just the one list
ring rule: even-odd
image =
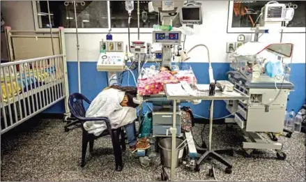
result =
[{"label": "thin metal pole standing between the crib and the plastic chair", "polygon": [[78,86],[79,86],[79,93],[81,93],[81,68],[79,66],[79,33],[77,31],[77,3],[80,3],[81,6],[85,5],[84,1],[65,1],[64,5],[69,6],[69,3],[73,3],[75,9],[75,31],[77,33],[77,79],[78,79]]}]

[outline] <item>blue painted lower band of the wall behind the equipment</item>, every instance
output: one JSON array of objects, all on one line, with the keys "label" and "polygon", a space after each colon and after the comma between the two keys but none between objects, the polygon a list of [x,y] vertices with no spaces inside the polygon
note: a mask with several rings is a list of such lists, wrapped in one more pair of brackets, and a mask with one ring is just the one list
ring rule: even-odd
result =
[{"label": "blue painted lower band of the wall behind the equipment", "polygon": [[[194,74],[198,79],[199,84],[208,84],[208,63],[188,63]],[[95,62],[81,62],[81,84],[82,93],[84,96],[93,100],[95,96],[107,86],[107,77],[105,72],[99,72],[96,70]],[[147,64],[151,66],[151,64]],[[216,80],[227,79],[225,73],[230,69],[229,63],[212,63],[213,73]],[[135,76],[137,72],[134,71]],[[77,62],[68,62],[68,80],[70,93],[78,91],[77,87]],[[291,66],[291,82],[293,82],[295,89],[291,91],[289,95],[289,101],[287,109],[294,109],[296,112],[305,103],[305,63],[293,63]],[[123,79],[123,86],[128,85],[128,74],[125,73]],[[130,86],[135,86],[134,79],[130,75]],[[194,114],[208,117],[209,101],[204,101],[199,105],[191,105]],[[63,102],[54,105],[47,109],[47,113],[63,113]],[[225,103],[223,101],[215,102],[214,117],[222,117],[228,115],[227,109],[225,109]]]}]

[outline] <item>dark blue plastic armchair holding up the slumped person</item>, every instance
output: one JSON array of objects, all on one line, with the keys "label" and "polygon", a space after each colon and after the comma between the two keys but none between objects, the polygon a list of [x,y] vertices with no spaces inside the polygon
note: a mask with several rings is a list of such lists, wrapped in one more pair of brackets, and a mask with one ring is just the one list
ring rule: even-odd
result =
[{"label": "dark blue plastic armchair holding up the slumped person", "polygon": [[[122,151],[126,150],[124,130],[122,128],[112,129],[110,121],[107,117],[94,117],[94,118],[87,117],[86,118],[86,110],[84,107],[84,101],[86,103],[91,104],[91,101],[87,99],[85,96],[83,96],[81,93],[72,93],[68,99],[68,105],[69,105],[71,114],[78,121],[82,122],[83,135],[82,135],[81,167],[85,166],[87,144],[89,143],[89,152],[92,153],[94,140],[100,137],[104,137],[106,135],[110,135],[112,139],[113,149],[114,149],[116,171],[121,172],[123,169]],[[83,127],[83,123],[85,123],[86,121],[105,121],[107,130],[102,132],[99,136],[89,134],[89,132],[84,130],[84,127]]]}]

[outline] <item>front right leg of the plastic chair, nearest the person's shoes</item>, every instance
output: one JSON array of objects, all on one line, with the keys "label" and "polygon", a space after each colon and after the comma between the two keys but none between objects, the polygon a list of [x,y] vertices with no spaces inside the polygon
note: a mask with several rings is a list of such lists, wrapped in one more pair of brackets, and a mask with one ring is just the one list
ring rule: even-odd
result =
[{"label": "front right leg of the plastic chair, nearest the person's shoes", "polygon": [[119,135],[121,135],[121,134],[118,130],[112,130],[112,132],[113,132],[112,144],[113,144],[113,148],[114,148],[116,171],[121,172],[122,169],[123,169],[121,143],[120,143],[120,140],[119,140]]}]

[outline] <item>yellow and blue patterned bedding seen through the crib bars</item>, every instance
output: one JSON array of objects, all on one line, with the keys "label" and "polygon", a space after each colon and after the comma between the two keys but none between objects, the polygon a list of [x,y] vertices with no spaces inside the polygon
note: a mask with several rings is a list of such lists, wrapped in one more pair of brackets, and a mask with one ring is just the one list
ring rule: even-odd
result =
[{"label": "yellow and blue patterned bedding seen through the crib bars", "polygon": [[[47,84],[54,79],[59,78],[59,74],[56,73],[55,68],[46,68],[45,70],[26,70],[26,73],[17,73],[17,83],[15,75],[12,76],[12,79],[6,75],[6,84],[8,86],[8,93],[6,92],[6,84],[4,78],[1,77],[1,93],[4,102],[8,102],[8,98],[13,100],[14,96],[31,89],[35,89],[35,86],[41,86]],[[35,85],[35,86],[34,86]],[[13,87],[13,88],[12,88]]]}]

